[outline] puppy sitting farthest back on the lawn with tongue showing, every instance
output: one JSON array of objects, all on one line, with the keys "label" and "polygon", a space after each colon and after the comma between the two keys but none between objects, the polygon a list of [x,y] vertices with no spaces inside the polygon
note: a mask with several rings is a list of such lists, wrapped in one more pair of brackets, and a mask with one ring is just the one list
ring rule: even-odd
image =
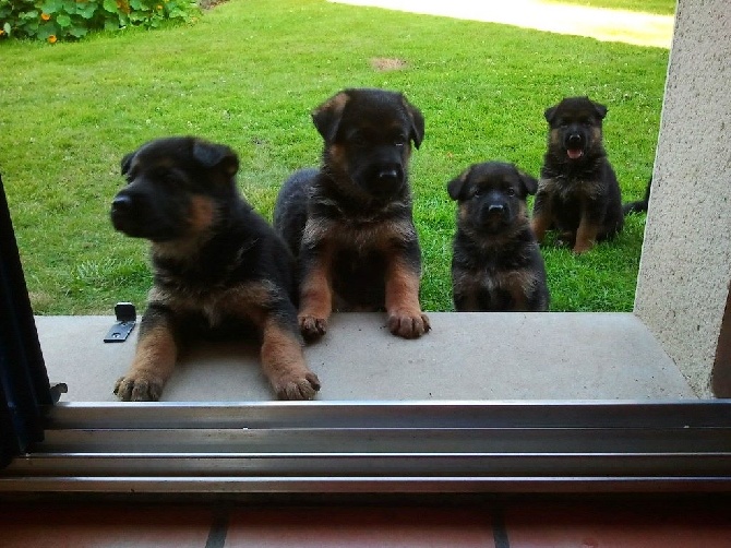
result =
[{"label": "puppy sitting farthest back on the lawn with tongue showing", "polygon": [[622,230],[622,195],[602,143],[607,107],[568,97],[546,110],[548,151],[534,204],[538,241],[556,229],[574,252]]}]

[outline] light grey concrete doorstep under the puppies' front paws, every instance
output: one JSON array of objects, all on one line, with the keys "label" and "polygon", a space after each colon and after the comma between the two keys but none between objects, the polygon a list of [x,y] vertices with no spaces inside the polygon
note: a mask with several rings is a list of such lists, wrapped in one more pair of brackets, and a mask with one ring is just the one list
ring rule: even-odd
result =
[{"label": "light grey concrete doorstep under the puppies' front paws", "polygon": [[[321,401],[695,398],[673,361],[632,313],[432,312],[417,341],[393,336],[380,313],[340,313],[307,346]],[[36,317],[62,402],[113,402],[139,329],[104,343],[113,317]],[[201,343],[180,359],[161,401],[274,398],[251,343]]]}]

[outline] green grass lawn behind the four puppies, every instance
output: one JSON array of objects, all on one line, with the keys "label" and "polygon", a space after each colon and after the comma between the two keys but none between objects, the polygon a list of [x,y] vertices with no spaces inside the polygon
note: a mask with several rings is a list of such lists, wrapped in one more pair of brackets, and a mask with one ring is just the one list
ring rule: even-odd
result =
[{"label": "green grass lawn behind the four puppies", "polygon": [[[374,69],[399,59],[402,70]],[[652,168],[668,51],[324,0],[231,0],[193,25],[77,44],[0,44],[0,171],[37,313],[142,307],[146,246],[115,233],[119,162],[146,140],[196,134],[240,155],[239,184],[271,217],[290,171],[319,162],[310,110],[343,87],[400,90],[424,114],[411,181],[427,310],[451,310],[454,203],[471,163],[538,175],[543,110],[567,95],[609,107],[606,146],[625,200]],[[575,257],[544,247],[552,310],[632,309],[644,216]]]}]

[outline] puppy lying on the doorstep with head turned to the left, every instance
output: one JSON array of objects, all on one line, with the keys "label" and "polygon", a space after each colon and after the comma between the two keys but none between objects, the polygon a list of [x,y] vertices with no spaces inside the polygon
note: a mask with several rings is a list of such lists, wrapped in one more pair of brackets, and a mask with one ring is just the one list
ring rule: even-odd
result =
[{"label": "puppy lying on the doorstep with head turned to the left", "polygon": [[151,240],[154,285],[134,361],[115,386],[120,400],[160,397],[189,326],[256,337],[280,398],[320,389],[302,354],[293,257],[238,193],[238,167],[229,147],[191,136],[152,141],[122,159],[128,184],[111,222]]}]

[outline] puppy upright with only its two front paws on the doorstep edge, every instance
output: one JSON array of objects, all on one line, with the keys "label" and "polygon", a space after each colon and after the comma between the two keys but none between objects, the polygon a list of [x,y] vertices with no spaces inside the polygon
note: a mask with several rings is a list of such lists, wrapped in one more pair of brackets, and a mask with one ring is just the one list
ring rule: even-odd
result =
[{"label": "puppy upright with only its two front paws on the doorstep edge", "polygon": [[408,165],[423,116],[399,93],[345,90],[312,120],[321,167],[292,175],[274,210],[275,229],[299,258],[301,332],[322,336],[333,310],[385,309],[392,333],[419,337],[430,326]]}]

